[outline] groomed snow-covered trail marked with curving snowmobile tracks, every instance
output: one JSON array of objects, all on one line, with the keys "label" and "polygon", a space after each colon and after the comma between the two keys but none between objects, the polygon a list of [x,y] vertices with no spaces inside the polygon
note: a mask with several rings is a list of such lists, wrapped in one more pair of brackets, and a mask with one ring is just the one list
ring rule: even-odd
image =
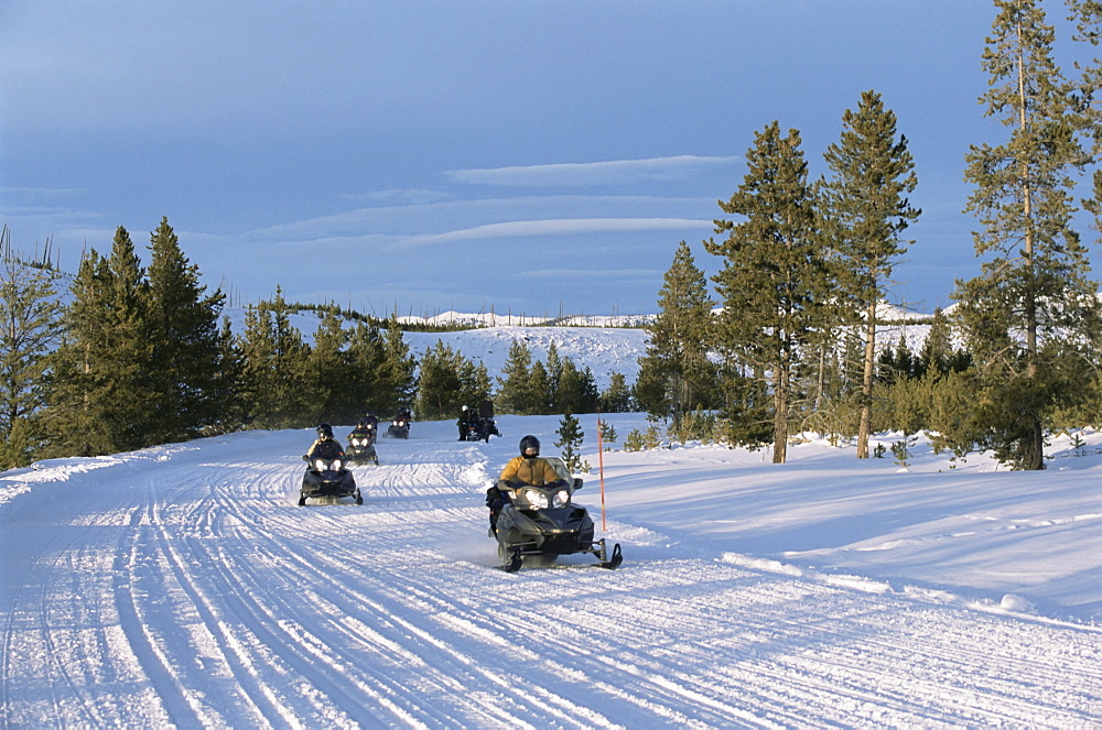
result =
[{"label": "groomed snow-covered trail marked with curving snowmobile tracks", "polygon": [[[310,432],[28,472],[33,493],[0,512],[0,721],[1102,722],[1096,629],[700,555],[656,532],[653,510],[647,527],[630,510],[609,523],[619,570],[588,556],[494,569],[483,497],[511,436],[462,444],[450,423],[414,424],[357,468],[363,506],[295,505]],[[577,498],[598,501],[592,486]]]}]

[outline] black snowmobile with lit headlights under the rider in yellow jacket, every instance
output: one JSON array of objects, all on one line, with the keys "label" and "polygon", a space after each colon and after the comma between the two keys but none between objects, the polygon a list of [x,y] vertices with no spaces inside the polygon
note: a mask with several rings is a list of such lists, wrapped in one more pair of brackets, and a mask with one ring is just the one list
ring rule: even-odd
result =
[{"label": "black snowmobile with lit headlights under the rider in yellow jacket", "polygon": [[495,534],[497,554],[507,573],[521,565],[551,565],[560,555],[590,553],[603,568],[615,569],[623,563],[619,543],[608,553],[605,540],[593,540],[593,520],[572,497],[582,488],[562,459],[545,457],[560,480],[544,487],[514,486],[498,482],[506,501],[497,515]]}]

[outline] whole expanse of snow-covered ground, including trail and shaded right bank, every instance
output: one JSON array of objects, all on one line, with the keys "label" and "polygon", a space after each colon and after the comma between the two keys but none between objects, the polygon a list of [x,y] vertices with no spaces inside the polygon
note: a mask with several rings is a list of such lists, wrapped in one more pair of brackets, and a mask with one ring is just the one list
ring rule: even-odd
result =
[{"label": "whole expanse of snow-covered ground, including trail and shaded right bank", "polygon": [[296,505],[310,431],[0,475],[0,722],[1102,726],[1102,435],[1044,472],[818,440],[777,466],[598,454],[582,416],[576,499],[625,563],[507,574],[484,490],[558,424],[415,423],[361,506]]}]

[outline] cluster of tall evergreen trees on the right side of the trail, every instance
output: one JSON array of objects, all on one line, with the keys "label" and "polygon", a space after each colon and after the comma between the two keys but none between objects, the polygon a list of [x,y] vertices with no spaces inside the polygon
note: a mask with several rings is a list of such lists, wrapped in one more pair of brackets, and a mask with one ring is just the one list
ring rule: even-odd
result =
[{"label": "cluster of tall evergreen trees on the right side of the trail", "polygon": [[[682,242],[661,292],[662,312],[637,384],[640,403],[677,422],[716,410],[732,443],[771,444],[786,458],[792,427],[856,436],[868,456],[874,428],[934,432],[958,454],[991,449],[1023,469],[1042,468],[1046,429],[1092,424],[1102,406],[1098,284],[1074,228],[1102,219],[1102,63],[1066,76],[1040,0],[995,0],[983,53],[985,113],[1006,128],[998,145],[973,145],[966,210],[982,273],[958,281],[951,323],[939,318],[923,353],[880,362],[876,307],[912,241],[917,185],[896,117],[873,90],[846,111],[809,179],[797,130],[773,122],[746,154],[747,173],[716,220],[722,310],[709,316],[703,273]],[[1098,46],[1102,3],[1067,0],[1072,43]],[[1076,175],[1094,166],[1093,189]],[[941,315],[939,315],[941,317]],[[949,347],[948,327],[961,348]],[[884,367],[887,366],[887,367]],[[874,407],[875,406],[875,407]]]}]

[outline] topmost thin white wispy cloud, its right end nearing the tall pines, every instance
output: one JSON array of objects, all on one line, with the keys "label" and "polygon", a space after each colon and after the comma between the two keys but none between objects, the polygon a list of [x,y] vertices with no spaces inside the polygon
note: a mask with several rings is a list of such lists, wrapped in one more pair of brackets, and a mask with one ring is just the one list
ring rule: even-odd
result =
[{"label": "topmost thin white wispy cloud, its right end nearing the tall pines", "polygon": [[450,170],[444,174],[456,183],[512,187],[630,185],[641,182],[683,178],[700,167],[733,165],[741,161],[741,155],[705,157],[685,154],[648,160]]}]

